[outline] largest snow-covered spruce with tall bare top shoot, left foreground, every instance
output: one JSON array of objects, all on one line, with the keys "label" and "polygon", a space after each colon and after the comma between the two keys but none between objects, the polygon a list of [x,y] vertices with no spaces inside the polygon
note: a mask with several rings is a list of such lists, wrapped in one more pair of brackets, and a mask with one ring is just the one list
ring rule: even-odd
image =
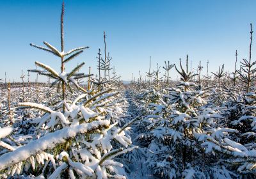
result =
[{"label": "largest snow-covered spruce with tall bare top shoot, left foreground", "polygon": [[[115,111],[116,102],[111,100],[116,92],[111,92],[113,89],[98,91],[99,88],[81,88],[76,79],[86,75],[78,74],[77,70],[84,63],[69,73],[65,72],[65,63],[87,47],[64,51],[63,15],[64,4],[61,12],[61,52],[47,42],[44,42],[46,48],[31,44],[61,58],[60,73],[40,62],[36,62],[36,65],[44,70],[31,70],[55,79],[52,84],[61,86],[61,101],[52,107],[29,102],[19,104],[45,113],[33,121],[37,127],[32,141],[13,147],[13,151],[0,156],[1,178],[21,174],[39,178],[125,178],[123,165],[113,158],[137,148],[113,146],[113,140],[124,147],[131,144],[125,128],[133,122],[119,128],[116,121],[118,116],[112,120],[111,114],[122,114],[122,111]],[[83,92],[74,101],[67,98],[66,87],[72,91],[70,83]]]}]

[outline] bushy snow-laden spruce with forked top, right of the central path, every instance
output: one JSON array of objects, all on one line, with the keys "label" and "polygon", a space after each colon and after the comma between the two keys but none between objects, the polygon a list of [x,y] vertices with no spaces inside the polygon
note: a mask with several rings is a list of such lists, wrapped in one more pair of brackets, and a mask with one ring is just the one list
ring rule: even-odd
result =
[{"label": "bushy snow-laden spruce with forked top, right of the central path", "polygon": [[188,71],[188,59],[186,68],[180,61],[180,70],[176,65],[175,69],[181,76],[177,88],[167,88],[163,97],[148,104],[150,114],[142,121],[147,129],[138,139],[148,144],[146,164],[164,178],[214,178],[218,167],[211,166],[212,156],[204,155],[200,136],[221,116],[205,107],[210,88],[191,82],[195,74]]}]

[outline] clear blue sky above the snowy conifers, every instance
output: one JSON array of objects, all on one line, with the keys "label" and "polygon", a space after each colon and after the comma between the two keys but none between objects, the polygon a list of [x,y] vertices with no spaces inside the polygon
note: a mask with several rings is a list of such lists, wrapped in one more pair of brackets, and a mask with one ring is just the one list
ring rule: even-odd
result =
[{"label": "clear blue sky above the snowy conifers", "polygon": [[[60,48],[61,2],[0,1],[0,77],[4,78],[7,72],[10,81],[19,81],[21,69],[35,68],[34,61],[59,69],[58,58],[30,47],[29,43],[42,45],[46,41]],[[95,56],[99,47],[104,47],[104,30],[107,50],[124,80],[130,80],[132,72],[138,77],[139,70],[144,75],[149,56],[152,66],[163,66],[164,60],[178,63],[188,54],[195,68],[200,60],[205,66],[209,59],[212,72],[222,63],[232,70],[236,49],[239,59],[248,58],[251,22],[256,32],[255,7],[256,1],[235,0],[65,1],[65,50],[90,46],[68,63],[67,70],[84,61],[83,71],[92,66],[95,72]],[[173,71],[172,76],[177,78]],[[35,75],[31,78],[35,80]]]}]

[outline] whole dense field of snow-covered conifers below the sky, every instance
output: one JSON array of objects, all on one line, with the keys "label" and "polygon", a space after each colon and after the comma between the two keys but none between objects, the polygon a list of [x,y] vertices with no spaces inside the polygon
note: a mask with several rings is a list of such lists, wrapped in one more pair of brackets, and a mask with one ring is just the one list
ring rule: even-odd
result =
[{"label": "whole dense field of snow-covered conifers below the sky", "polygon": [[[47,83],[2,81],[0,178],[255,178],[256,68],[252,59],[196,72],[188,56],[164,61],[146,78],[120,81],[111,57],[97,54],[98,73],[65,71],[88,47],[65,49],[64,4],[60,49],[48,42],[35,50],[56,56],[60,71],[36,61],[29,73]],[[249,38],[250,37],[250,38]],[[236,50],[236,49],[235,49]],[[176,60],[175,60],[176,62]],[[159,64],[162,62],[159,62]],[[207,68],[207,74],[201,74]],[[179,81],[173,81],[173,72]]]}]

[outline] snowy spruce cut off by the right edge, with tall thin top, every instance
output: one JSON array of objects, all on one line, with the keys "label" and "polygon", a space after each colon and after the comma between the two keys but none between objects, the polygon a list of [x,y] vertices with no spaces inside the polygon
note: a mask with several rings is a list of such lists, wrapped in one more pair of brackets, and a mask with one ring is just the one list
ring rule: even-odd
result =
[{"label": "snowy spruce cut off by the right edge, with tall thin top", "polygon": [[[221,156],[221,162],[239,174],[240,178],[255,178],[256,176],[256,94],[253,86],[255,78],[255,61],[252,61],[252,24],[250,31],[249,60],[243,59],[241,71],[238,71],[237,79],[243,86],[241,89],[228,91],[227,110],[224,126],[233,128],[226,132],[236,132],[220,136],[218,139],[208,136],[206,152],[214,152]],[[224,131],[224,130],[223,130]]]}]

